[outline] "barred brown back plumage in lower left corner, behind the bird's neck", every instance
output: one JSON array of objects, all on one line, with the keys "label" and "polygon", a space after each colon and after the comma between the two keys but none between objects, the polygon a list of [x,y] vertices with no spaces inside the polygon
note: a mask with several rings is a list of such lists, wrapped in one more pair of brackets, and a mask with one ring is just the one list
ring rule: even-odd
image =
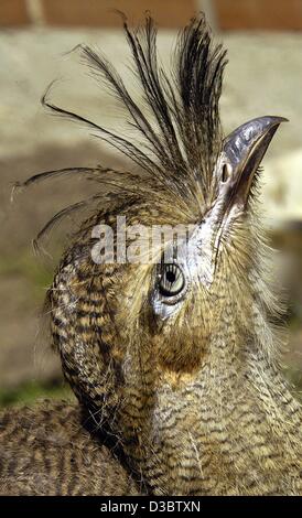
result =
[{"label": "barred brown back plumage in lower left corner, behind the bird's neck", "polygon": [[118,456],[86,430],[88,423],[66,401],[2,413],[0,495],[138,495]]}]

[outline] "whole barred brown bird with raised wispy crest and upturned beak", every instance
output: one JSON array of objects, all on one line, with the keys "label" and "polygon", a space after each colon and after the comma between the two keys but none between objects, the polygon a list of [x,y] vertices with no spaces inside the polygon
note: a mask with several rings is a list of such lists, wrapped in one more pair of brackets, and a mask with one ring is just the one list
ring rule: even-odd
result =
[{"label": "whole barred brown bird with raised wispy crest and upturned beak", "polygon": [[[254,118],[224,136],[226,51],[203,14],[180,32],[169,69],[151,15],[138,29],[126,17],[122,23],[140,102],[106,56],[87,45],[77,52],[123,108],[127,130],[65,110],[50,90],[43,97],[46,108],[86,126],[132,165],[48,171],[23,184],[80,175],[96,193],[62,209],[37,236],[66,215],[89,212],[45,303],[78,402],[23,410],[21,421],[21,410],[10,411],[8,439],[3,418],[2,479],[20,479],[21,494],[35,490],[37,470],[42,479],[54,474],[41,493],[108,494],[112,477],[119,494],[131,486],[157,496],[301,495],[302,410],[281,368],[285,303],[259,203],[260,164],[285,119]],[[108,228],[112,242],[103,239]],[[154,228],[170,234],[153,240]],[[47,445],[52,419],[64,449],[58,440]],[[83,450],[93,455],[89,467]],[[103,487],[93,487],[91,471]]]}]

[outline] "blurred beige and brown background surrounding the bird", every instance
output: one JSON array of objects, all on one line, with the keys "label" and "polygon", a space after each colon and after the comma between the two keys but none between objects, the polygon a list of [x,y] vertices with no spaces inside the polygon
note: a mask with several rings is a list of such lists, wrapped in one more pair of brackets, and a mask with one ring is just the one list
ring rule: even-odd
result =
[{"label": "blurred beige and brown background surrounding the bird", "polygon": [[[0,0],[0,404],[65,393],[60,364],[39,317],[60,256],[62,235],[35,257],[31,240],[64,205],[89,194],[80,181],[33,187],[10,203],[12,183],[43,170],[122,166],[121,157],[71,121],[51,117],[40,98],[53,79],[57,104],[103,126],[119,122],[108,93],[80,64],[78,43],[97,46],[127,76],[129,55],[114,10],[132,23],[149,10],[161,28],[163,62],[177,30],[204,10],[229,52],[222,116],[225,131],[249,118],[290,119],[265,160],[263,208],[282,250],[290,330],[284,367],[302,370],[302,0]],[[50,251],[51,250],[51,251]],[[51,255],[51,256],[50,256]],[[281,283],[281,279],[280,279]],[[66,390],[67,393],[67,390]]]}]

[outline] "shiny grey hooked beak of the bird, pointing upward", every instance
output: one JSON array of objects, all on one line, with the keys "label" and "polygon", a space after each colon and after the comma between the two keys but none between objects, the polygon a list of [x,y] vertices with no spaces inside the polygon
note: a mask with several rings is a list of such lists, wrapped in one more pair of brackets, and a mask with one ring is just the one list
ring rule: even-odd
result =
[{"label": "shiny grey hooked beak of the bird, pointing upward", "polygon": [[[224,141],[220,186],[228,202],[246,205],[252,179],[283,117],[259,117],[239,126]],[[227,191],[227,193],[226,193]],[[233,203],[230,204],[233,205]]]}]

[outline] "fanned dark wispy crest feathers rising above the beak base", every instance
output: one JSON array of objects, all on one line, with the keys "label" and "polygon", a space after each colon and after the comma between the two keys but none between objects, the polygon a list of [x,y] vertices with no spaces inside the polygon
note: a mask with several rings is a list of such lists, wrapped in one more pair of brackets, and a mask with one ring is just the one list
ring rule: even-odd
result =
[{"label": "fanned dark wispy crest feathers rising above the beak base", "polygon": [[[141,28],[130,30],[123,19],[123,28],[132,68],[141,86],[142,104],[133,100],[123,79],[105,56],[86,45],[77,48],[97,80],[105,82],[125,107],[137,140],[54,105],[50,89],[42,102],[58,115],[85,123],[95,136],[136,162],[144,171],[149,192],[173,194],[187,206],[188,213],[193,205],[192,212],[196,212],[208,196],[213,168],[222,145],[218,102],[226,52],[222,45],[213,44],[206,21],[199,15],[181,31],[172,67],[166,71],[160,65],[153,20],[148,15]],[[74,171],[79,172],[79,169],[74,168]],[[41,180],[65,173],[71,174],[73,170],[42,173]],[[87,170],[87,176],[91,179],[91,171]],[[112,180],[112,175],[110,177]],[[33,179],[37,181],[40,176]],[[96,168],[93,179],[106,183],[106,170]],[[123,180],[118,175],[119,188],[123,182],[127,192],[127,186],[129,190],[129,184],[138,183],[138,179],[137,174],[127,172]]]}]

